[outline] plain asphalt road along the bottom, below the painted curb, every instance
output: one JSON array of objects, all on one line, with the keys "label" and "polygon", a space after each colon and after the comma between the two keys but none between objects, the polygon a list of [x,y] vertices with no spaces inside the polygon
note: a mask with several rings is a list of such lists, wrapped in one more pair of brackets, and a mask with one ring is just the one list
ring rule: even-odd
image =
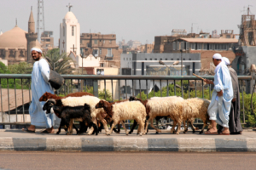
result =
[{"label": "plain asphalt road along the bottom, below the painted curb", "polygon": [[1,151],[0,169],[255,169],[256,153]]}]

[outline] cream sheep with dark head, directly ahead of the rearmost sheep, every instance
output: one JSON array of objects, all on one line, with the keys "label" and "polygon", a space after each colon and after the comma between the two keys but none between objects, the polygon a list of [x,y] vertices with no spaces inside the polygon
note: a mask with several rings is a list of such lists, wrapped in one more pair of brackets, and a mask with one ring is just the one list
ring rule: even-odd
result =
[{"label": "cream sheep with dark head, directly ahead of the rearmost sheep", "polygon": [[[179,129],[181,127],[181,122],[183,121],[182,116],[180,114],[182,110],[182,102],[183,98],[177,96],[170,96],[165,98],[154,98],[154,99],[137,99],[136,97],[132,97],[131,100],[139,100],[143,103],[147,110],[147,124],[146,124],[146,132],[148,130],[148,122],[150,122],[150,126],[153,127],[157,133],[160,133],[160,129],[154,127],[153,120],[156,116],[170,116],[173,122],[177,122],[178,130],[177,134],[179,133]],[[171,133],[174,132],[174,127],[172,126]]]}]

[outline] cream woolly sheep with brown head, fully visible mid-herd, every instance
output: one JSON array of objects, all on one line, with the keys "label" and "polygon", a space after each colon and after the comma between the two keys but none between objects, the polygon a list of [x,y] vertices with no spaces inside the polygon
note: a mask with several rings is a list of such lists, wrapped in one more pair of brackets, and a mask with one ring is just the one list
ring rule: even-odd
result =
[{"label": "cream woolly sheep with brown head, fully visible mid-herd", "polygon": [[[114,105],[111,105],[108,103],[108,101],[101,100],[99,103],[95,106],[96,109],[103,108],[104,111],[108,114],[108,116],[112,117],[113,124],[106,133],[107,135],[110,135],[113,131],[113,127],[121,121],[123,124],[123,127],[125,128],[124,120],[132,119],[136,120],[139,124],[138,133],[142,136],[144,134],[144,122],[146,120],[146,108],[141,102],[138,101],[125,101],[121,103],[117,103]],[[125,128],[125,134],[128,135],[128,131]]]}]

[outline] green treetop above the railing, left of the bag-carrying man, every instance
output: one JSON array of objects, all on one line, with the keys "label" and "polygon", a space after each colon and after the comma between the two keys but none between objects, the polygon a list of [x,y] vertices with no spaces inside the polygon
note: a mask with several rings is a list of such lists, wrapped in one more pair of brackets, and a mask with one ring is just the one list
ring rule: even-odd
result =
[{"label": "green treetop above the railing, left of the bag-carrying man", "polygon": [[32,64],[20,62],[19,64],[9,65],[8,69],[11,74],[31,74]]}]

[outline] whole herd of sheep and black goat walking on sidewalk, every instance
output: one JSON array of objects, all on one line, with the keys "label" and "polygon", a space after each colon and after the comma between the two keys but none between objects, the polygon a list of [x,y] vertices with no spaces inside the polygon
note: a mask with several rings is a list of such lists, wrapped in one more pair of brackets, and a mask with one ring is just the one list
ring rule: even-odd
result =
[{"label": "whole herd of sheep and black goat walking on sidewalk", "polygon": [[[173,120],[171,133],[176,134],[180,133],[182,122],[185,127],[184,133],[188,131],[189,123],[195,133],[193,122],[195,118],[201,118],[204,125],[200,133],[203,133],[207,122],[210,122],[207,114],[210,101],[199,98],[183,99],[171,96],[142,100],[131,97],[129,100],[110,103],[92,94],[78,92],[67,94],[65,97],[45,93],[39,101],[45,101],[44,111],[55,113],[61,118],[57,134],[61,132],[61,127],[66,130],[67,134],[73,133],[73,127],[78,134],[86,133],[87,128],[90,127],[87,134],[95,133],[97,135],[104,127],[106,134],[110,135],[113,131],[119,133],[119,124],[121,123],[126,135],[132,133],[137,124],[137,134],[143,135],[148,133],[148,122],[157,133],[160,133],[160,129],[154,127],[153,124],[154,119],[158,121],[160,118],[171,118]],[[130,132],[125,128],[125,120],[134,120]],[[73,121],[79,122],[79,129],[73,125]],[[185,126],[186,121],[187,126]],[[110,130],[108,124],[110,124]],[[116,125],[118,125],[118,130],[115,128]],[[177,131],[175,131],[176,126]]]}]

